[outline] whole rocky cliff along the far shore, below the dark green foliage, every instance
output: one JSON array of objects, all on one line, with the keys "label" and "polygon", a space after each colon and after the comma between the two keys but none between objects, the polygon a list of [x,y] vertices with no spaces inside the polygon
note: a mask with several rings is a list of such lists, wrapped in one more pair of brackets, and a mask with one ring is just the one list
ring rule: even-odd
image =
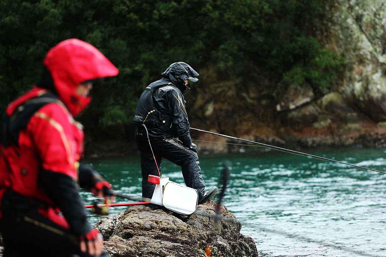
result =
[{"label": "whole rocky cliff along the far shore, below the dark green foliage", "polygon": [[[273,79],[251,65],[245,78],[228,78],[212,67],[201,86],[186,96],[191,127],[285,148],[386,147],[386,2],[326,1],[328,19],[312,32],[326,49],[342,56],[342,72],[328,88],[288,85],[273,95]],[[126,136],[134,138],[134,126]],[[119,133],[114,133],[120,135]],[[191,132],[192,139],[239,143]],[[98,140],[98,139],[96,139]],[[92,141],[92,140],[91,140]],[[111,143],[112,154],[134,153],[135,144]],[[203,152],[242,152],[252,148],[196,142]],[[86,149],[106,154],[105,142]],[[101,148],[102,146],[102,148]],[[119,149],[118,149],[119,148]],[[124,149],[124,151],[122,150]],[[255,148],[254,148],[255,149]],[[257,148],[256,149],[261,149]],[[87,153],[88,156],[93,153]]]}]

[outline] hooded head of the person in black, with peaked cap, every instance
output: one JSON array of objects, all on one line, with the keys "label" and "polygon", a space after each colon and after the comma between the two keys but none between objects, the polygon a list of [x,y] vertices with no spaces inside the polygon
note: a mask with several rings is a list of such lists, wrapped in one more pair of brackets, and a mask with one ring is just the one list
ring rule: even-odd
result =
[{"label": "hooded head of the person in black, with peaked cap", "polygon": [[172,63],[163,73],[163,78],[167,78],[173,83],[181,92],[184,92],[187,86],[185,86],[185,79],[196,82],[199,74],[190,67],[189,64],[184,62]]}]

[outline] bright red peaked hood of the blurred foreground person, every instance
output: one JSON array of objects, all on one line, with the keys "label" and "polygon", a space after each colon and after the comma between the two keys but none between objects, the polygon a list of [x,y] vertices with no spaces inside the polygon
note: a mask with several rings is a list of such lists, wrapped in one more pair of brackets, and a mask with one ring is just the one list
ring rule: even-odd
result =
[{"label": "bright red peaked hood of the blurred foreground person", "polygon": [[50,71],[59,99],[73,116],[91,101],[75,93],[86,80],[116,76],[118,69],[94,46],[79,39],[67,39],[52,47],[43,61]]}]

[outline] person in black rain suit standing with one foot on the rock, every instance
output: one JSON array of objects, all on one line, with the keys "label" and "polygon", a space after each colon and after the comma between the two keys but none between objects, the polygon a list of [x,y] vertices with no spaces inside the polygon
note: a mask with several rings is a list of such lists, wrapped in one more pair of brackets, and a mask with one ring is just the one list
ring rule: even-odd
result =
[{"label": "person in black rain suit standing with one foot on the rock", "polygon": [[151,198],[155,185],[147,182],[148,175],[158,176],[146,132],[161,172],[162,158],[181,166],[186,186],[197,189],[198,203],[204,203],[217,193],[217,187],[205,192],[205,182],[201,175],[197,146],[191,142],[188,114],[183,93],[190,90],[188,79],[198,81],[199,74],[188,64],[173,63],[162,78],[151,83],[139,98],[135,110],[134,123],[137,125],[135,140],[141,155],[142,196]]}]

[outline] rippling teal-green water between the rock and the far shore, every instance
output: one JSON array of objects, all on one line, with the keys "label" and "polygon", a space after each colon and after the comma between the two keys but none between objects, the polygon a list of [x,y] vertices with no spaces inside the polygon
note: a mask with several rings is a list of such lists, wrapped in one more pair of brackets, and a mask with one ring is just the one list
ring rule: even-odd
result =
[{"label": "rippling teal-green water between the rock and the far shore", "polygon": [[[385,149],[309,152],[386,171]],[[386,174],[306,157],[266,152],[200,156],[207,187],[218,186],[223,161],[232,162],[223,200],[265,256],[386,256]],[[141,196],[139,157],[87,161],[115,190]],[[183,183],[163,162],[163,176]],[[95,198],[81,192],[86,203]],[[117,202],[125,200],[117,199]],[[110,208],[111,214],[125,207]],[[97,216],[90,215],[93,223]]]}]

